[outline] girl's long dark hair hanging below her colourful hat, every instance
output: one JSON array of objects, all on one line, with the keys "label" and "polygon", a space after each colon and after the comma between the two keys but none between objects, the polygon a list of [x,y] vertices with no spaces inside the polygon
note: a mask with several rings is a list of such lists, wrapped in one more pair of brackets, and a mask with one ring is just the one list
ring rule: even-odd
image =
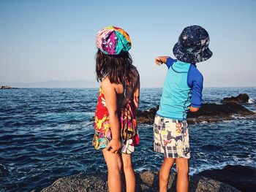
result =
[{"label": "girl's long dark hair hanging below her colourful hat", "polygon": [[108,76],[111,83],[124,83],[131,81],[134,74],[132,69],[132,57],[128,52],[119,55],[105,55],[101,50],[96,54],[97,81],[102,81]]}]

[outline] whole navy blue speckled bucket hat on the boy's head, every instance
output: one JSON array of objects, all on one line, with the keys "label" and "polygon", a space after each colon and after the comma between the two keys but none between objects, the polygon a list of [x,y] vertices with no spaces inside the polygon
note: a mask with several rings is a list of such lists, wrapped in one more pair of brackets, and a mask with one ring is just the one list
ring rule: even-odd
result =
[{"label": "whole navy blue speckled bucket hat on the boy's head", "polygon": [[206,29],[201,26],[184,28],[178,42],[173,47],[173,54],[180,61],[199,63],[211,58],[212,52],[208,48],[210,37]]}]

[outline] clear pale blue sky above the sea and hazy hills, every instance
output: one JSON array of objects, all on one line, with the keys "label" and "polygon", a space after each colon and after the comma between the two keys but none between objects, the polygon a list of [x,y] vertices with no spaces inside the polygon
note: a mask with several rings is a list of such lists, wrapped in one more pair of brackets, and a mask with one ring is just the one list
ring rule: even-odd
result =
[{"label": "clear pale blue sky above the sea and hazy hills", "polygon": [[205,86],[256,86],[256,1],[0,0],[0,82],[94,80],[95,36],[124,28],[143,87],[161,87],[184,27],[210,35],[213,57],[197,64]]}]

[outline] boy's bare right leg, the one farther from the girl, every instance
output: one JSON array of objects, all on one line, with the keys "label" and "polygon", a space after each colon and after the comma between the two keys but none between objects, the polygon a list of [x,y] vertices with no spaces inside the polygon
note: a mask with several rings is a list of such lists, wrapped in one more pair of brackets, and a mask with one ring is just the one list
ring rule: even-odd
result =
[{"label": "boy's bare right leg, the one farther from the girl", "polygon": [[189,159],[188,158],[176,158],[177,168],[177,192],[189,191]]}]

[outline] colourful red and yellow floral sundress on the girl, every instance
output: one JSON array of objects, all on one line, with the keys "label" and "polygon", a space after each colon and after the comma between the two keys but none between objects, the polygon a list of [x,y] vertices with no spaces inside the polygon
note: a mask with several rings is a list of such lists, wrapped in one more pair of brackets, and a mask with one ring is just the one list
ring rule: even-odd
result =
[{"label": "colourful red and yellow floral sundress on the girl", "polygon": [[[118,112],[118,117],[121,125],[121,140],[123,142],[121,153],[133,153],[135,145],[138,145],[140,142],[133,99],[129,99],[127,104],[121,107]],[[108,143],[112,139],[112,135],[108,108],[106,107],[105,96],[101,87],[99,88],[94,128],[95,134],[92,144],[95,149],[99,150],[107,147]]]}]

